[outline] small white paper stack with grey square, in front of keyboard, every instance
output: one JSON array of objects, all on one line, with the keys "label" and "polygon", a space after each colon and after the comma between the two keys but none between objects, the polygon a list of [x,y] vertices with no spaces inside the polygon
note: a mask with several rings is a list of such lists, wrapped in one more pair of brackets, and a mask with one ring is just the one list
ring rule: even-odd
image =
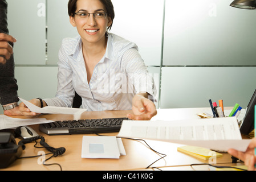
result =
[{"label": "small white paper stack with grey square, in front of keyboard", "polygon": [[116,137],[84,136],[82,143],[82,158],[119,159],[126,155],[123,142]]}]

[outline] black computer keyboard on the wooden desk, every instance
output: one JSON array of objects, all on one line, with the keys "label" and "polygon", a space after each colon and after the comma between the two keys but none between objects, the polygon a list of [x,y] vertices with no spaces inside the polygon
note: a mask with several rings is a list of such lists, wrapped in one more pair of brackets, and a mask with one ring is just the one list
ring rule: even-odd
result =
[{"label": "black computer keyboard on the wooden desk", "polygon": [[123,120],[128,120],[128,118],[55,121],[40,124],[39,130],[48,135],[112,133],[120,131]]}]

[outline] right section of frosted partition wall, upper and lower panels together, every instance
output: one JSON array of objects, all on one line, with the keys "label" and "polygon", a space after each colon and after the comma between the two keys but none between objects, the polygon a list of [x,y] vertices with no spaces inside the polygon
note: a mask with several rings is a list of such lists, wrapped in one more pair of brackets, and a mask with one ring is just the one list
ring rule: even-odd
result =
[{"label": "right section of frosted partition wall, upper and lower panels together", "polygon": [[229,3],[165,1],[161,108],[210,98],[246,108],[256,88],[256,13]]}]

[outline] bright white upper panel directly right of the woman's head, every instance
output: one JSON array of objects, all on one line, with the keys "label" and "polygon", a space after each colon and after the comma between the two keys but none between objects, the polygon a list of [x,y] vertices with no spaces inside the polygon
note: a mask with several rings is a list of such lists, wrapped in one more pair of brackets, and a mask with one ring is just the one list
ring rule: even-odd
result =
[{"label": "bright white upper panel directly right of the woman's head", "polygon": [[146,65],[160,66],[164,0],[112,0],[111,32],[135,42]]}]

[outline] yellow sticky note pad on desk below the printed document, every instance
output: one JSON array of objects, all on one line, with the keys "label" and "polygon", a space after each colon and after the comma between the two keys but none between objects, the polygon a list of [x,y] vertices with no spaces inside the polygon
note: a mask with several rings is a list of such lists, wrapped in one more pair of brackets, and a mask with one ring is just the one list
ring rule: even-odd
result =
[{"label": "yellow sticky note pad on desk below the printed document", "polygon": [[221,158],[223,155],[214,152],[212,150],[209,150],[207,148],[202,148],[202,147],[194,147],[194,146],[183,146],[183,147],[178,147],[178,151],[182,152],[184,154],[192,155],[196,158],[208,160],[209,158]]}]

